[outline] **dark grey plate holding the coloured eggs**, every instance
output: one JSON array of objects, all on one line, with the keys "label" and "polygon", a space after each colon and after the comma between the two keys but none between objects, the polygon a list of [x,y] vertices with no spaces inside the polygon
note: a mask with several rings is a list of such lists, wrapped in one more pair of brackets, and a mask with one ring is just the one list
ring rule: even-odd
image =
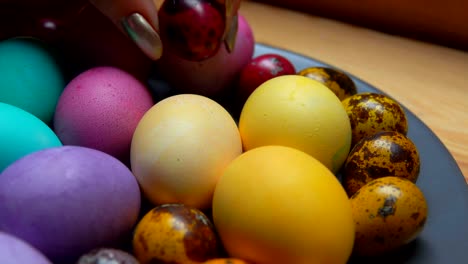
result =
[{"label": "dark grey plate holding the coloured eggs", "polygon": [[[297,53],[257,44],[255,56],[265,53],[288,58],[296,70],[311,66],[332,67]],[[356,83],[358,92],[382,93],[348,75]],[[408,137],[416,145],[421,158],[417,185],[429,206],[426,226],[414,242],[398,252],[385,258],[352,259],[350,263],[468,263],[468,188],[463,174],[437,136],[407,108],[404,109],[408,118]]]}]

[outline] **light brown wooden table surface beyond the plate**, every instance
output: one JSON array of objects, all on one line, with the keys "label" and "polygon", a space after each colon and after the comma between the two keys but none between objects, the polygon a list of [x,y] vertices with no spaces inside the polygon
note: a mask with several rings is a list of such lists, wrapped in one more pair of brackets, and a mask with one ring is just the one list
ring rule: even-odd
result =
[{"label": "light brown wooden table surface beyond the plate", "polygon": [[251,1],[256,42],[341,68],[396,98],[449,149],[468,181],[468,52]]}]

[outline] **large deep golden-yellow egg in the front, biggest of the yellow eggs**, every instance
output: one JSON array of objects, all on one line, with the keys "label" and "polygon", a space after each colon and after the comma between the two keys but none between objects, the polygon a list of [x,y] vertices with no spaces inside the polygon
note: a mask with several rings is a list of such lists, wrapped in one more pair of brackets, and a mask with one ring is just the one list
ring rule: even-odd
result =
[{"label": "large deep golden-yellow egg in the front, biggest of the yellow eggs", "polygon": [[229,256],[248,263],[344,264],[354,243],[351,205],[322,163],[294,148],[237,157],[213,196],[213,221]]}]

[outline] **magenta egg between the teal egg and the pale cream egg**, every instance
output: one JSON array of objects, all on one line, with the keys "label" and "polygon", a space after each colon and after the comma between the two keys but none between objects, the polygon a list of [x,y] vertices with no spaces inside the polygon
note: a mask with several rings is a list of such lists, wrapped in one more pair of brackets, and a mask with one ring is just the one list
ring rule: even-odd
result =
[{"label": "magenta egg between the teal egg and the pale cream egg", "polygon": [[101,150],[127,162],[133,132],[152,106],[147,87],[129,73],[113,67],[92,68],[65,87],[54,131],[64,145]]}]

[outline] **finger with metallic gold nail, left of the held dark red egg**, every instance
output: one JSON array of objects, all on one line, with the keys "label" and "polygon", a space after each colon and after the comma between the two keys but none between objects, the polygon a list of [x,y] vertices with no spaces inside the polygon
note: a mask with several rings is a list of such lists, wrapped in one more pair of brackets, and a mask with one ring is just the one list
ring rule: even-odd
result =
[{"label": "finger with metallic gold nail, left of the held dark red egg", "polygon": [[162,55],[158,13],[152,0],[90,0],[151,59]]}]

